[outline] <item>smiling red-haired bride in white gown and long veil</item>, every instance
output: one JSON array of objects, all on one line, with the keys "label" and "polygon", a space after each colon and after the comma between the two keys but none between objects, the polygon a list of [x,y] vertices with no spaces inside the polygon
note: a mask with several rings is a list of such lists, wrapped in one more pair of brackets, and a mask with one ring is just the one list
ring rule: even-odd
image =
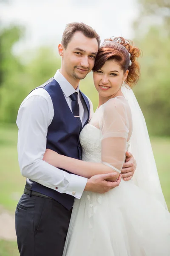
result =
[{"label": "smiling red-haired bride in white gown and long veil", "polygon": [[44,160],[74,174],[120,175],[125,152],[137,161],[133,179],[74,202],[63,256],[170,256],[170,214],[161,192],[147,128],[131,90],[140,55],[124,38],[104,41],[96,56],[99,106],[80,133],[82,160],[45,152]]}]

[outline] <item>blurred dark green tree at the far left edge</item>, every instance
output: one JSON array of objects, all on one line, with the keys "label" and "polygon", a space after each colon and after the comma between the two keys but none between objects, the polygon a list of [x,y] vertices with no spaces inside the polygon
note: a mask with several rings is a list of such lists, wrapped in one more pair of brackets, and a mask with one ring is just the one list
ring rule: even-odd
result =
[{"label": "blurred dark green tree at the far left edge", "polygon": [[7,121],[14,116],[18,89],[23,80],[24,67],[12,53],[14,44],[22,37],[23,28],[11,26],[0,31],[0,120]]}]

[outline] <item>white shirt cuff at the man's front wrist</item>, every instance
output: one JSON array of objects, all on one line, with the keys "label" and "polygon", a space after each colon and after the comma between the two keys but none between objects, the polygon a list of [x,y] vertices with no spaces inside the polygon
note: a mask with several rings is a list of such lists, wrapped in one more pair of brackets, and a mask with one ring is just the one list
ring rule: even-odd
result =
[{"label": "white shirt cuff at the man's front wrist", "polygon": [[71,180],[65,193],[68,195],[73,195],[75,198],[80,199],[87,181],[88,179],[85,177],[71,174]]}]

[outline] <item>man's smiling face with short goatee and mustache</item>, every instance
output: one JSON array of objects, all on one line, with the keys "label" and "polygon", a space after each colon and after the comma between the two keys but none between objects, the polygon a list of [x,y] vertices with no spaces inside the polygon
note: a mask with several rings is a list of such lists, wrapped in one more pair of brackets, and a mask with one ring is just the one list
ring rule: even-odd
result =
[{"label": "man's smiling face with short goatee and mustache", "polygon": [[87,38],[82,32],[75,32],[67,48],[62,50],[62,67],[66,75],[84,79],[94,67],[98,49],[96,38]]}]

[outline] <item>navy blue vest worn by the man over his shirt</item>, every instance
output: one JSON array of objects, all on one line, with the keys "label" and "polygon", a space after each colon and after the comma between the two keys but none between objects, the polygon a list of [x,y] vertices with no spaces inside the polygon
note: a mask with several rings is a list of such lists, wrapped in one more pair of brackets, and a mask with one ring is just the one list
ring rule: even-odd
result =
[{"label": "navy blue vest worn by the man over his shirt", "polygon": [[[79,142],[81,130],[77,119],[75,119],[65,100],[61,87],[54,78],[51,78],[38,88],[43,88],[49,93],[54,106],[54,118],[48,127],[46,148],[50,148],[59,154],[81,160],[82,148]],[[88,110],[88,119],[84,124],[86,125],[90,115],[90,104],[85,94],[81,91],[79,92]],[[74,204],[73,196],[59,193],[35,181],[27,179],[26,188],[53,198],[67,209],[71,209]]]}]

